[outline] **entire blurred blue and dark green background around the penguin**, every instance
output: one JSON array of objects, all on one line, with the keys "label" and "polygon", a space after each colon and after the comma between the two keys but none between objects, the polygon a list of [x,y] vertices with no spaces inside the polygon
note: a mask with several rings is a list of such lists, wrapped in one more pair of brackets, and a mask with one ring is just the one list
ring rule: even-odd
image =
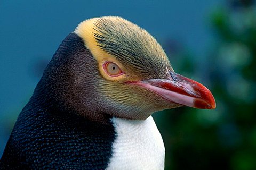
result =
[{"label": "entire blurred blue and dark green background around the penguin", "polygon": [[162,44],[174,70],[202,82],[215,110],[154,114],[165,169],[256,169],[253,0],[0,1],[0,156],[61,41],[84,19],[122,16]]}]

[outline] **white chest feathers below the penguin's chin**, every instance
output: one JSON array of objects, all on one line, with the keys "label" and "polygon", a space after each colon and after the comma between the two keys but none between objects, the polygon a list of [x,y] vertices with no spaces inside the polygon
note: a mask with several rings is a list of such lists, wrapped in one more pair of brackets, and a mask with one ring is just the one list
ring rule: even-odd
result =
[{"label": "white chest feathers below the penguin's chin", "polygon": [[112,121],[117,137],[107,169],[164,169],[164,143],[153,117]]}]

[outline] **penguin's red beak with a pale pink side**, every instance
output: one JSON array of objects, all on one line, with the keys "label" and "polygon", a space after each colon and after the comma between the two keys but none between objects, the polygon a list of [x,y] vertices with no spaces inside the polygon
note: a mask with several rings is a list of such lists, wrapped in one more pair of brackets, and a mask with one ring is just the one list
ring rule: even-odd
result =
[{"label": "penguin's red beak with a pale pink side", "polygon": [[150,79],[139,82],[129,82],[151,91],[164,99],[183,106],[201,109],[214,109],[215,99],[210,90],[202,84],[171,72],[169,79]]}]

